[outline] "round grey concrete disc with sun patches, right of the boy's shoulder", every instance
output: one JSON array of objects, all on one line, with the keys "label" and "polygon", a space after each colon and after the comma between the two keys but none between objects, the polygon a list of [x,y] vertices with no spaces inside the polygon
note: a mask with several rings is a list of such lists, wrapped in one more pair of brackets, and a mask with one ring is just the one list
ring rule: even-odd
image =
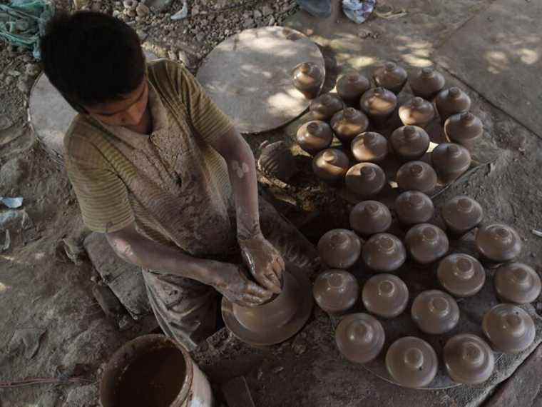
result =
[{"label": "round grey concrete disc with sun patches, right of the boy's shoulder", "polygon": [[198,71],[205,91],[230,116],[241,133],[277,129],[309,106],[292,84],[292,69],[324,57],[317,45],[298,31],[262,27],[240,32],[219,44]]}]

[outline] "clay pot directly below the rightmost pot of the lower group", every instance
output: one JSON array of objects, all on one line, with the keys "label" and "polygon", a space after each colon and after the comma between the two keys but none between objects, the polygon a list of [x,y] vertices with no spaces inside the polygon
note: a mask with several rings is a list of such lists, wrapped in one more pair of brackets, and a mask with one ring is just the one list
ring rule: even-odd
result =
[{"label": "clay pot directly below the rightmost pot of the lower group", "polygon": [[520,353],[535,337],[533,318],[512,304],[498,304],[487,311],[482,321],[484,334],[498,352]]}]

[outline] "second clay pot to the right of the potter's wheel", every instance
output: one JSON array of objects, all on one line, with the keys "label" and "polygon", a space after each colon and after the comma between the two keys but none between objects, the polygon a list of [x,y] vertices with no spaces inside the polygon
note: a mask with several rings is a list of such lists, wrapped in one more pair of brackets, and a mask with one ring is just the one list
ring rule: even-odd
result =
[{"label": "second clay pot to the right of the potter's wheel", "polygon": [[363,286],[362,301],[367,311],[382,318],[395,318],[409,302],[409,289],[393,274],[377,274]]}]

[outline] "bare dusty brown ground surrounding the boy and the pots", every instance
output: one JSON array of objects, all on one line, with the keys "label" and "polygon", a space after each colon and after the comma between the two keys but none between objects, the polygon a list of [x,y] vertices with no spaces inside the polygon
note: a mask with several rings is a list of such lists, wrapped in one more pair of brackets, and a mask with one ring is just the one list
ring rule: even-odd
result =
[{"label": "bare dusty brown ground surrounding the boy and the pots", "polygon": [[[435,65],[446,84],[469,94],[472,111],[485,126],[480,165],[439,195],[436,206],[458,194],[476,199],[487,218],[516,228],[523,241],[520,261],[542,271],[542,238],[532,233],[542,231],[542,5],[536,0],[381,0],[378,13],[356,25],[342,14],[340,1],[333,3],[329,19],[309,16],[292,0],[189,0],[190,14],[180,21],[170,19],[182,6],[179,0],[163,13],[143,9],[136,16],[124,14],[118,1],[93,0],[88,8],[130,22],[145,49],[180,59],[194,72],[228,36],[268,25],[295,29],[319,45],[325,91],[345,69],[369,74],[387,60],[407,71]],[[73,8],[68,0],[56,5]],[[143,315],[134,321],[118,309],[106,316],[96,300],[103,296],[93,295],[109,272],[98,273],[86,257],[82,241],[88,231],[65,170],[26,122],[38,73],[29,54],[0,42],[0,196],[24,197],[24,213],[10,228],[11,244],[0,253],[0,383],[24,378],[55,383],[1,387],[0,406],[98,406],[103,364],[126,341],[155,331],[156,323]],[[349,227],[352,205],[311,175],[310,159],[293,137],[299,124],[246,139],[255,156],[263,141],[291,146],[300,172],[288,184],[260,174],[260,183],[277,209],[316,242],[331,228]],[[3,239],[4,232],[2,244]],[[107,258],[100,267],[108,267]],[[533,306],[542,315],[540,298]],[[142,309],[138,303],[133,307]],[[281,345],[250,348],[223,329],[194,358],[214,383],[245,376],[255,405],[262,407],[527,407],[542,406],[541,340],[538,332],[528,351],[501,358],[483,386],[438,391],[400,388],[345,363],[329,319],[317,309],[307,326]],[[85,380],[58,383],[71,377]]]}]

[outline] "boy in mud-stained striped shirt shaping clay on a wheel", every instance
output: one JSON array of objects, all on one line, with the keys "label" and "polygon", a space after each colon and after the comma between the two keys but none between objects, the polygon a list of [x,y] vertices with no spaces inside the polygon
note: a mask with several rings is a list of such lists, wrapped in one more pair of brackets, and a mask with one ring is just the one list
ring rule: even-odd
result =
[{"label": "boy in mud-stained striped shirt shaping clay on a wheel", "polygon": [[242,306],[280,293],[281,252],[312,266],[310,244],[259,198],[250,147],[183,66],[146,64],[136,31],[93,12],[53,19],[41,54],[79,112],[64,144],[83,221],[143,268],[168,336],[189,351],[210,336],[217,291]]}]

